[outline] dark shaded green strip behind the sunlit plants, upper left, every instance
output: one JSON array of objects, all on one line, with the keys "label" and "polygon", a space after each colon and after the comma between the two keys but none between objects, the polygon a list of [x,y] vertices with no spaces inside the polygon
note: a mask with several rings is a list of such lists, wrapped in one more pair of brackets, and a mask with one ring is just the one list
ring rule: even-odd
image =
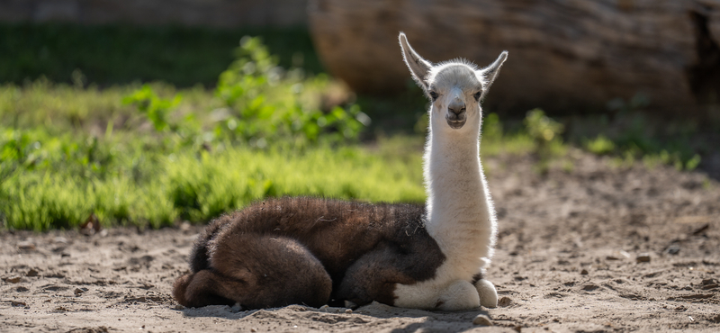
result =
[{"label": "dark shaded green strip behind the sunlit plants, upper left", "polygon": [[79,69],[97,85],[164,81],[213,86],[235,58],[244,35],[261,36],[281,66],[323,71],[306,28],[213,30],[128,25],[0,23],[0,82],[23,84],[42,76],[72,83]]}]

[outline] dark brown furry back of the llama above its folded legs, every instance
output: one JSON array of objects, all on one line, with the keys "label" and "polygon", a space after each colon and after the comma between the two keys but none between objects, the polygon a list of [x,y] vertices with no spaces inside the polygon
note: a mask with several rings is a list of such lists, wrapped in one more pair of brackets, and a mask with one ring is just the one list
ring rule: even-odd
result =
[{"label": "dark brown furry back of the llama above its folded legs", "polygon": [[[346,202],[313,197],[272,198],[212,220],[195,243],[193,272],[211,266],[218,239],[273,235],[297,239],[329,274],[341,278],[347,266],[381,242],[404,244],[428,238],[425,207],[410,203]],[[406,240],[403,240],[406,239]]]}]

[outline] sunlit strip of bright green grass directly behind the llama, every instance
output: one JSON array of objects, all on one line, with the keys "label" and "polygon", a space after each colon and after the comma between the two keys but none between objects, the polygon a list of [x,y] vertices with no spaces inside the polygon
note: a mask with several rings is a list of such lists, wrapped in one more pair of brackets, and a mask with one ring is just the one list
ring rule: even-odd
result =
[{"label": "sunlit strip of bright green grass directly behind the llama", "polygon": [[[105,226],[158,228],[176,220],[210,220],[268,196],[421,202],[425,195],[419,153],[408,160],[360,147],[302,152],[233,147],[165,155],[139,142],[118,147],[121,141],[103,143],[118,149],[105,165],[67,166],[71,158],[60,148],[49,167],[21,166],[5,175],[4,228],[74,228],[93,213]],[[38,155],[54,155],[42,147],[35,148]]]}]

